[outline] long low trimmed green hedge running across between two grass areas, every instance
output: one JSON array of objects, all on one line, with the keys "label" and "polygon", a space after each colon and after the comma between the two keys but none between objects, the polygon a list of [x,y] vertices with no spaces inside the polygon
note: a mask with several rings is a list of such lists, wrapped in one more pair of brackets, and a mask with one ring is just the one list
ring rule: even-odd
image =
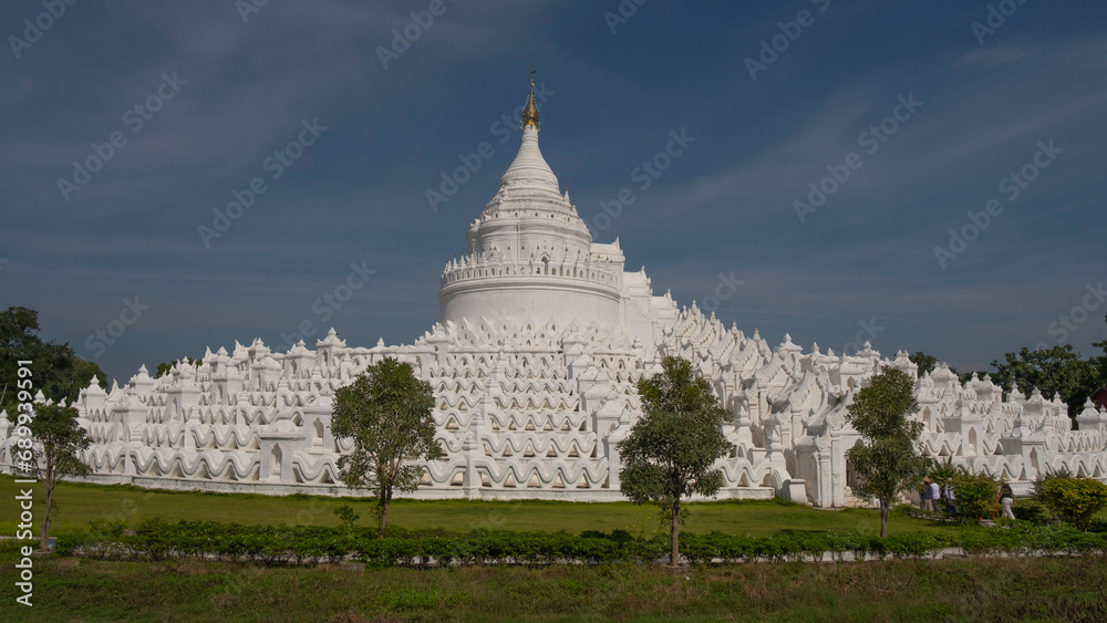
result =
[{"label": "long low trimmed green hedge running across between two grass areas", "polygon": [[[1107,530],[1097,523],[1093,528]],[[166,560],[213,558],[262,565],[313,565],[356,560],[371,567],[447,564],[601,564],[651,563],[669,549],[668,534],[633,537],[625,531],[560,532],[475,530],[408,531],[317,526],[244,526],[214,521],[145,521],[128,531],[120,523],[92,522],[87,530],[59,536],[60,553],[91,558]],[[880,539],[861,532],[780,531],[769,537],[682,532],[681,553],[690,562],[842,561],[935,557],[944,548],[971,555],[1107,552],[1107,531],[1025,521],[1003,528],[964,527],[948,534],[904,532]]]}]

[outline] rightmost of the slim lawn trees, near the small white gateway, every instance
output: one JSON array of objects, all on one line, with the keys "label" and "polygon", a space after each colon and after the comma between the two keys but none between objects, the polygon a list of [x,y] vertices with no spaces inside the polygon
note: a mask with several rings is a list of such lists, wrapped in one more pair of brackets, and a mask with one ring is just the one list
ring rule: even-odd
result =
[{"label": "rightmost of the slim lawn trees, near the small white gateway", "polygon": [[930,459],[917,455],[922,423],[909,419],[919,411],[914,381],[892,367],[870,380],[846,407],[846,419],[861,435],[861,445],[846,458],[857,474],[853,492],[880,501],[880,537],[888,536],[888,511],[903,490],[915,490],[931,468]]}]

